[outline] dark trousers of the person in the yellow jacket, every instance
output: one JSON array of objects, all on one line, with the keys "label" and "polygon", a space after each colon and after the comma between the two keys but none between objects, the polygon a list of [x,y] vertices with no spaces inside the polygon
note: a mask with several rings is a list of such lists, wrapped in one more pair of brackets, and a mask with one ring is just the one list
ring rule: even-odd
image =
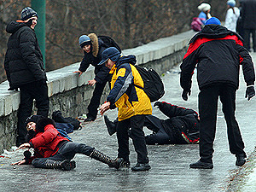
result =
[{"label": "dark trousers of the person in the yellow jacket", "polygon": [[129,136],[128,130],[131,127],[131,139],[137,152],[138,163],[148,163],[148,150],[146,147],[143,124],[144,115],[135,115],[130,119],[125,119],[118,122],[117,125],[117,139],[119,144],[118,157],[129,160]]}]

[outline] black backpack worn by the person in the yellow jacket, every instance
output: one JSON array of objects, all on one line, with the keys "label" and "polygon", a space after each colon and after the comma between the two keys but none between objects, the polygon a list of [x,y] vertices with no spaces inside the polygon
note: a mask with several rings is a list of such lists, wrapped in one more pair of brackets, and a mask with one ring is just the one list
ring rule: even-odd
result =
[{"label": "black backpack worn by the person in the yellow jacket", "polygon": [[137,68],[138,73],[140,73],[143,79],[144,88],[137,84],[134,85],[145,91],[150,102],[155,102],[165,95],[165,87],[162,79],[160,79],[159,74],[156,73],[153,68],[140,67],[137,65],[134,67]]}]

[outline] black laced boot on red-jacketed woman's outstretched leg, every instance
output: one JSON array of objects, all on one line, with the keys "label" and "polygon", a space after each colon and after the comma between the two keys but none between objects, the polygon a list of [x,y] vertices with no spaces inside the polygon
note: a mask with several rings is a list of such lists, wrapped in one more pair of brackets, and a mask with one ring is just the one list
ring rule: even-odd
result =
[{"label": "black laced boot on red-jacketed woman's outstretched leg", "polygon": [[102,163],[105,163],[108,166],[114,167],[116,169],[123,167],[123,162],[124,162],[123,158],[117,158],[117,159],[113,160],[112,158],[108,157],[106,154],[103,154],[102,152],[97,151],[96,149],[94,149],[91,152],[90,157],[92,159],[99,160]]}]

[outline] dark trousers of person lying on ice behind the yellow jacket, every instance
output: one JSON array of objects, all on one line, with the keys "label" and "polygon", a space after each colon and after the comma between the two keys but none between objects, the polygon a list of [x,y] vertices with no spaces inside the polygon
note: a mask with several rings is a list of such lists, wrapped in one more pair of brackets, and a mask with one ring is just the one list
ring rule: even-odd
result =
[{"label": "dark trousers of person lying on ice behind the yellow jacket", "polygon": [[145,119],[144,126],[146,126],[149,130],[154,131],[153,134],[150,134],[145,137],[146,144],[162,145],[162,144],[174,143],[174,139],[166,133],[166,130],[164,126],[161,124],[161,121],[159,118],[153,115],[148,115]]}]

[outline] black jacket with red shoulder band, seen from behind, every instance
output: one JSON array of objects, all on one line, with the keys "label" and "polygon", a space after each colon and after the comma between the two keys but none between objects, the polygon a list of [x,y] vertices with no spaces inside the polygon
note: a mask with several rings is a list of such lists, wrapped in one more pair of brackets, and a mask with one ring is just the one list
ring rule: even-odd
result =
[{"label": "black jacket with red shoulder band, seen from behind", "polygon": [[190,90],[196,64],[200,90],[211,84],[230,84],[238,89],[240,64],[247,85],[255,81],[253,61],[242,38],[224,26],[204,26],[190,40],[180,66],[183,90]]}]

